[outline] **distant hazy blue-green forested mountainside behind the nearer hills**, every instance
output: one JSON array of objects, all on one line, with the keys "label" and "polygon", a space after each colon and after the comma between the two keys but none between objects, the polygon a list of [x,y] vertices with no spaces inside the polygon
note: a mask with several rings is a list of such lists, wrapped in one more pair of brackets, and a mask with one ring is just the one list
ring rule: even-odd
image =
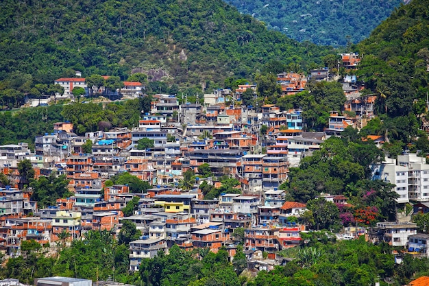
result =
[{"label": "distant hazy blue-green forested mountainside behind the nearer hills", "polygon": [[299,41],[345,46],[358,43],[398,7],[400,0],[384,1],[269,1],[226,0],[243,14]]}]

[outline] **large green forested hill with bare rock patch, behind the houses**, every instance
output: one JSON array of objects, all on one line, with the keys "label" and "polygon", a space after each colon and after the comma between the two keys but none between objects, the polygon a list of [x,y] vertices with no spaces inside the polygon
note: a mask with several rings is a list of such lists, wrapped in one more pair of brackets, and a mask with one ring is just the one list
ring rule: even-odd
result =
[{"label": "large green forested hill with bare rock patch, behind the houses", "polygon": [[206,87],[246,78],[274,59],[307,69],[328,53],[269,31],[221,0],[5,0],[0,10],[0,89],[21,93],[74,70],[125,80],[134,68],[151,71],[149,80],[164,75]]}]

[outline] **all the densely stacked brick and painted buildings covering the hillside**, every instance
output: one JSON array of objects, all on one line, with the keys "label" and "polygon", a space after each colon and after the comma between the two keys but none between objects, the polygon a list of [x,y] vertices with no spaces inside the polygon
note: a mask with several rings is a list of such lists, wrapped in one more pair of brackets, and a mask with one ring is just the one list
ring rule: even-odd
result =
[{"label": "all the densely stacked brick and painted buildings covering the hillside", "polygon": [[[350,69],[358,60],[356,54],[343,54],[343,62]],[[328,80],[329,76],[328,69],[311,74],[315,80]],[[298,73],[280,73],[278,82],[287,96],[302,91],[307,79]],[[56,84],[66,93],[75,86],[87,88],[83,78],[62,78]],[[124,95],[141,95],[141,84],[124,84]],[[362,127],[365,119],[373,117],[376,97],[359,96],[356,78],[346,77],[344,108],[354,111],[356,117],[333,111],[326,130],[304,132],[302,110],[281,111],[273,104],[260,106],[260,110],[225,104],[228,97],[239,100],[247,88],[256,91],[252,84],[238,86],[234,94],[217,90],[204,95],[204,104],[190,104],[186,99],[180,104],[175,95],[155,95],[151,112],[143,114],[132,130],[113,128],[78,136],[72,123],[58,122],[52,133],[36,136],[34,152],[26,143],[0,146],[0,172],[9,180],[8,186],[0,188],[0,249],[14,255],[23,240],[44,244],[82,237],[88,230],[119,232],[124,220],[134,222],[142,233],[130,243],[132,271],[138,270],[142,259],[154,257],[159,250],[168,251],[173,244],[214,252],[225,246],[233,257],[237,237],[232,233],[236,228],[245,230],[243,243],[249,261],[262,259],[260,252],[275,253],[297,245],[306,228],[296,224],[296,217],[306,211],[306,205],[287,202],[280,190],[289,167],[299,165],[304,156],[319,150],[325,139],[341,134],[347,126]],[[267,128],[264,134],[260,132],[262,126]],[[138,150],[140,139],[151,139],[154,146]],[[370,139],[383,143],[382,136]],[[24,159],[32,163],[35,178],[53,172],[65,175],[73,196],[59,199],[56,206],[38,208],[37,202],[30,200],[31,187],[24,186],[18,171]],[[212,177],[199,176],[198,167],[205,163]],[[415,212],[429,211],[426,161],[406,154],[371,168],[374,180],[395,184],[398,202],[414,200],[419,202]],[[194,171],[197,180],[185,191],[179,182],[187,170]],[[145,193],[132,193],[127,185],[106,186],[107,180],[123,172],[153,187]],[[241,194],[222,193],[215,200],[204,200],[199,184],[206,181],[219,187],[217,178],[225,175],[240,182],[237,187]],[[124,217],[122,209],[135,196],[139,198],[138,209]],[[339,204],[347,200],[341,195],[322,194],[321,198]],[[64,233],[69,233],[68,237]],[[355,229],[354,236],[358,234]],[[410,222],[379,223],[368,235],[373,241],[427,253],[429,236],[417,235],[417,226]],[[267,263],[256,264],[268,267]]]}]

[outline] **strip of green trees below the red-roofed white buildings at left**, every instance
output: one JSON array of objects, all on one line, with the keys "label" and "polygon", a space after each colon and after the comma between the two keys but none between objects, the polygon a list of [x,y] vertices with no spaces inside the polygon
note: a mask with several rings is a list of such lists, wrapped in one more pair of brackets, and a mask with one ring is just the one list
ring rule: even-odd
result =
[{"label": "strip of green trees below the red-roofed white buildings at left", "polygon": [[0,112],[0,145],[27,142],[32,146],[35,136],[52,132],[53,123],[59,121],[71,121],[79,135],[114,127],[136,127],[140,111],[150,108],[150,99],[143,97],[104,105],[75,102]]}]

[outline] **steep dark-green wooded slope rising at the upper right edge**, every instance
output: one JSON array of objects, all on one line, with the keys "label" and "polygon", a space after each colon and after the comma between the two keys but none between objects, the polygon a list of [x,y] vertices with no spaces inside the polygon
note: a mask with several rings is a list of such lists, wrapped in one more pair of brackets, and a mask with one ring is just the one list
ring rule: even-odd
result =
[{"label": "steep dark-green wooded slope rising at the upper right edge", "polygon": [[429,0],[402,5],[358,44],[364,55],[358,75],[389,117],[425,113],[429,72]]}]

